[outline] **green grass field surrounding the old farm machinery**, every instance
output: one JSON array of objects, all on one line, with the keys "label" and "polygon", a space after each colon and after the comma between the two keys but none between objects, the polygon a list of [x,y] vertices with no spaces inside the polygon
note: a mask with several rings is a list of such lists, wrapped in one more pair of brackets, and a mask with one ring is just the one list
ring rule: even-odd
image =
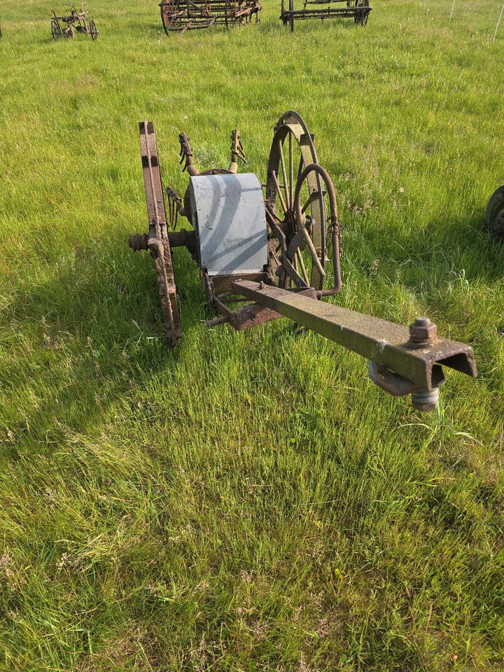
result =
[{"label": "green grass field surrounding the old farm machinery", "polygon": [[[375,4],[167,38],[93,0],[98,41],[53,43],[65,3],[1,1],[1,670],[504,669],[501,2]],[[138,120],[181,193],[181,130],[209,168],[238,125],[264,178],[288,109],[337,189],[335,301],[475,350],[437,413],[286,320],[208,330],[183,250],[165,347]]]}]

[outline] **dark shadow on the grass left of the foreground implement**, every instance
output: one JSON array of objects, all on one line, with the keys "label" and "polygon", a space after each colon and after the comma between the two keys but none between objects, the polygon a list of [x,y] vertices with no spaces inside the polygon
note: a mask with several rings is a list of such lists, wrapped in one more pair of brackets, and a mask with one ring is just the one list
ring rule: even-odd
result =
[{"label": "dark shadow on the grass left of the foreground implement", "polygon": [[[176,269],[190,341],[208,315],[193,262],[179,257]],[[174,373],[187,356],[187,347],[167,346],[152,260],[125,241],[103,237],[75,246],[70,262],[33,277],[19,284],[3,316],[10,323],[6,351],[21,349],[25,361],[5,376],[8,428],[23,444],[50,447],[69,431],[84,431],[118,400],[134,413],[142,388],[161,371]]]}]

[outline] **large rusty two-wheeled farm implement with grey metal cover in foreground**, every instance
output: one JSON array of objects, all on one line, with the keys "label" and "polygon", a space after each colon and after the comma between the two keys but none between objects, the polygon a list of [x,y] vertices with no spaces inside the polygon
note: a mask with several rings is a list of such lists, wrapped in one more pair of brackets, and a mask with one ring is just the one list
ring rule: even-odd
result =
[{"label": "large rusty two-wheeled farm implement with grey metal cover in foreground", "polygon": [[[130,247],[151,251],[171,346],[181,339],[172,248],[186,247],[218,313],[211,327],[241,330],[286,316],[369,359],[372,381],[393,395],[411,394],[421,411],[437,406],[442,365],[476,376],[470,346],[438,338],[428,318],[407,328],[321,301],[342,286],[341,225],[332,182],[297,113],[287,112],[274,128],[264,184],[253,173],[237,173],[245,162],[238,130],[228,169],[205,172],[181,133],[189,184],[183,197],[167,188],[168,212],[154,125],[139,126],[149,230],[132,235]],[[174,230],[179,215],[189,230]]]}]

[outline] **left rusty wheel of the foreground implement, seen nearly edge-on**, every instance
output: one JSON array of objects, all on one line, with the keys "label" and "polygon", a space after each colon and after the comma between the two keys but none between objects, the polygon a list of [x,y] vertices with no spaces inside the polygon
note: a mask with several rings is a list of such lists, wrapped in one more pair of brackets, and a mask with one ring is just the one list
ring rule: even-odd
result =
[{"label": "left rusty wheel of the foreground implement, seen nearly edge-on", "polygon": [[175,278],[170,248],[165,198],[163,197],[162,179],[158,158],[153,123],[139,123],[141,161],[144,171],[144,187],[147,200],[149,220],[148,234],[132,235],[130,247],[134,250],[148,248],[154,260],[158,279],[163,318],[169,345],[175,346],[181,339],[181,323],[177,304]]}]

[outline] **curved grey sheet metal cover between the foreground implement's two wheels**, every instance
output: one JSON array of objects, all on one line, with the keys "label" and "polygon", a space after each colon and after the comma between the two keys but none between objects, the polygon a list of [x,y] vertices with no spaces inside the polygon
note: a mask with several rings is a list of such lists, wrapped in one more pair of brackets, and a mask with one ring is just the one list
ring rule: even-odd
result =
[{"label": "curved grey sheet metal cover between the foreground implement's two wheels", "polygon": [[190,202],[201,265],[209,275],[262,271],[267,263],[267,229],[255,174],[191,177]]}]

